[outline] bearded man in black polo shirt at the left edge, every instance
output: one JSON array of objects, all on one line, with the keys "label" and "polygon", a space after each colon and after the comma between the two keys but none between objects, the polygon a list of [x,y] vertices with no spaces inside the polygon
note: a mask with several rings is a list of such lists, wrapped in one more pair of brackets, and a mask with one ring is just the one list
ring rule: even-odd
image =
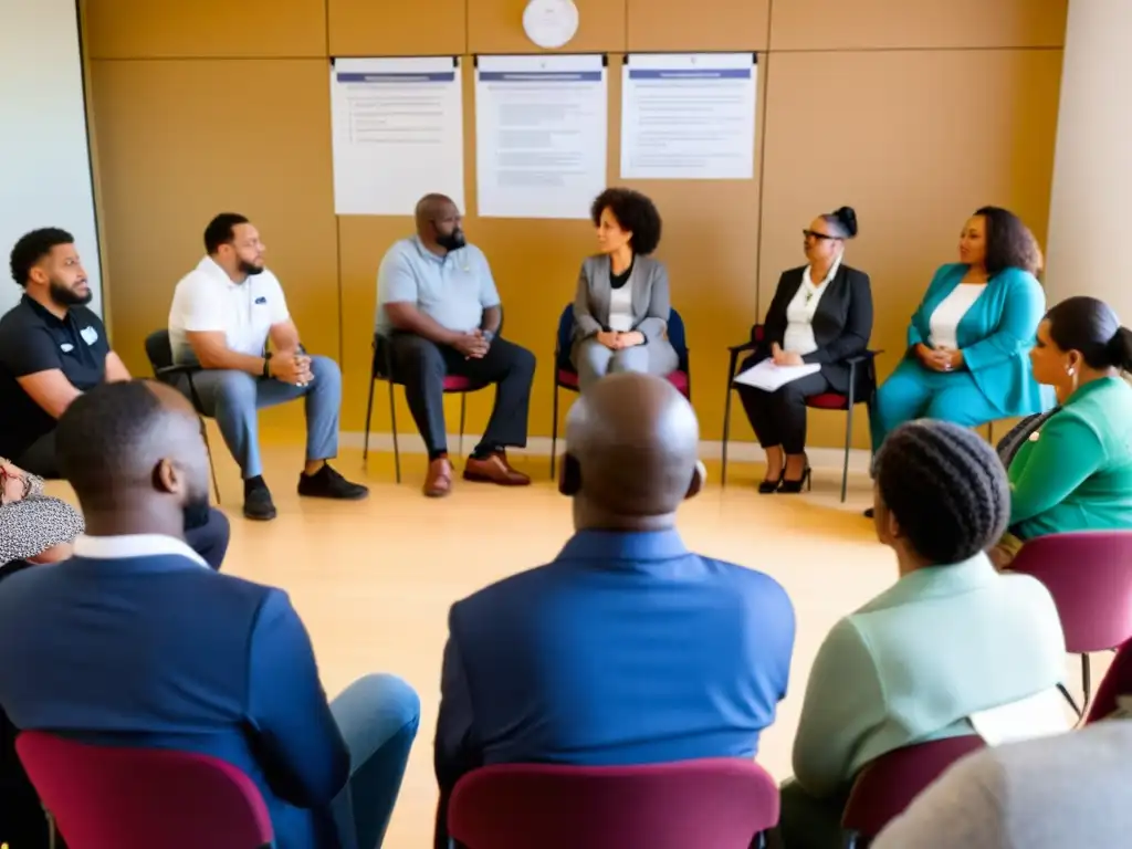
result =
[{"label": "bearded man in black polo shirt at the left edge", "polygon": [[0,319],[0,456],[43,478],[58,478],[55,423],[71,401],[100,383],[129,380],[106,328],[86,308],[94,293],[65,230],[23,237],[11,276],[24,288]]}]

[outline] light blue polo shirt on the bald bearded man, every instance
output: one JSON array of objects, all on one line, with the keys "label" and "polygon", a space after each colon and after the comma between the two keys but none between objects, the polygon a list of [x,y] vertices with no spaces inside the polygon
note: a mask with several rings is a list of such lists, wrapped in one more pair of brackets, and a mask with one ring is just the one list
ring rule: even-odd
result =
[{"label": "light blue polo shirt on the bald bearded man", "polygon": [[412,303],[441,327],[465,333],[480,326],[483,310],[499,306],[499,292],[474,245],[439,257],[413,237],[389,248],[377,273],[375,329],[381,335],[393,329],[386,303]]}]

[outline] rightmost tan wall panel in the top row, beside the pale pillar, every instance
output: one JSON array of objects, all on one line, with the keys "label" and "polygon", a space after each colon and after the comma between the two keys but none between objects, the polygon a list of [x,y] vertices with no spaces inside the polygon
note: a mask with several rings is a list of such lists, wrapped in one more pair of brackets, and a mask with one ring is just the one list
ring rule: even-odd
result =
[{"label": "rightmost tan wall panel in the top row, beside the pale pillar", "polygon": [[[771,50],[1049,48],[1067,0],[774,0]],[[825,80],[843,88],[840,80]]]}]

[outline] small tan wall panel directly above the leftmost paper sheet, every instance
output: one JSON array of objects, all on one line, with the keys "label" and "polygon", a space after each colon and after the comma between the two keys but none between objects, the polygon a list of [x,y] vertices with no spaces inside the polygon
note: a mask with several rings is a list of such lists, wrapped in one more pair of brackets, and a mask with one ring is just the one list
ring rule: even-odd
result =
[{"label": "small tan wall panel directly above the leftmost paper sheet", "polygon": [[326,0],[331,55],[457,55],[468,51],[466,0]]}]

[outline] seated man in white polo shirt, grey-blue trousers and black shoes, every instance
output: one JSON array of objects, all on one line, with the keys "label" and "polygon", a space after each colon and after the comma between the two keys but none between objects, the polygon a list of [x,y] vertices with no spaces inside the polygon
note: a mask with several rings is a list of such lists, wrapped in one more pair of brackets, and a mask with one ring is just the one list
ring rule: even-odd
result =
[{"label": "seated man in white polo shirt, grey-blue trousers and black shoes", "polygon": [[[194,385],[201,412],[216,420],[243,472],[243,515],[275,518],[259,460],[257,410],[298,397],[307,403],[307,465],[299,495],[365,498],[366,487],[326,462],[338,451],[342,372],[334,360],[303,350],[283,288],[264,266],[259,232],[242,215],[222,213],[205,229],[205,250],[207,256],[177,284],[169,336],[177,363],[205,369],[194,376]],[[188,380],[179,379],[188,392]]]}]

